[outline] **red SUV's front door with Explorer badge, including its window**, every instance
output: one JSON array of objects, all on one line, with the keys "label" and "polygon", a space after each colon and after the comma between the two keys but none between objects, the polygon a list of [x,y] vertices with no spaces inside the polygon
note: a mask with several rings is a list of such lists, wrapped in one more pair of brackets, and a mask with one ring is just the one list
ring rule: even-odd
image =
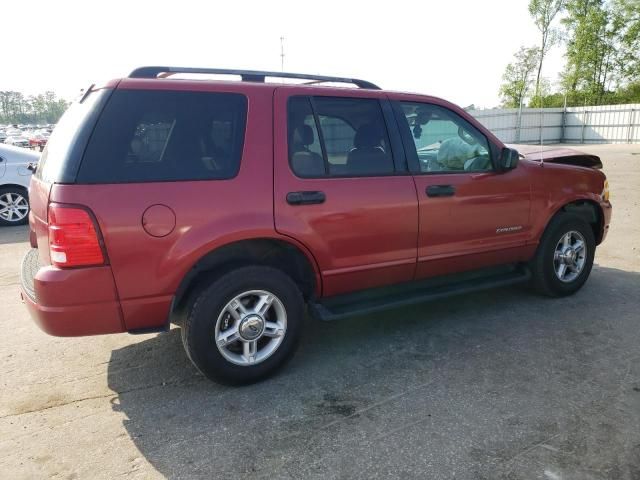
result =
[{"label": "red SUV's front door with Explorer badge, including its window", "polygon": [[457,107],[419,97],[393,107],[418,192],[416,278],[525,260],[526,170],[498,171],[502,146]]}]

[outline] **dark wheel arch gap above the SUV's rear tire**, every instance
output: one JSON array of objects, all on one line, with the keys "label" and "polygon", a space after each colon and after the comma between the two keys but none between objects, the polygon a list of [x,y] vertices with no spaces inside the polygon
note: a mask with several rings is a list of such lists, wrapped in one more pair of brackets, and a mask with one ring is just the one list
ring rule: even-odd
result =
[{"label": "dark wheel arch gap above the SUV's rear tire", "polygon": [[317,263],[303,246],[283,238],[238,240],[207,252],[187,271],[174,294],[171,321],[177,320],[188,299],[207,280],[246,265],[265,265],[281,270],[298,285],[305,300],[321,292]]}]

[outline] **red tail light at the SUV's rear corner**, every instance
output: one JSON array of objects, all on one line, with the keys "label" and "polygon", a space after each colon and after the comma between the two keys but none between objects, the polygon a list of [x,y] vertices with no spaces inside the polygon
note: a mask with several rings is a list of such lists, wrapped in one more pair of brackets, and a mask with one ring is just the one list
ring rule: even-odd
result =
[{"label": "red tail light at the SUV's rear corner", "polygon": [[83,208],[49,205],[49,254],[57,267],[103,265],[97,226]]}]

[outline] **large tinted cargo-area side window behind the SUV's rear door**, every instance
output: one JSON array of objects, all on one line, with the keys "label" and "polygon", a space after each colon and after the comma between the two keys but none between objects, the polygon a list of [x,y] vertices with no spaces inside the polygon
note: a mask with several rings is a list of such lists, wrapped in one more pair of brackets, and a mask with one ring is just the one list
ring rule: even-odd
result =
[{"label": "large tinted cargo-area side window behind the SUV's rear door", "polygon": [[240,168],[247,100],[240,94],[116,90],[78,183],[213,180]]}]

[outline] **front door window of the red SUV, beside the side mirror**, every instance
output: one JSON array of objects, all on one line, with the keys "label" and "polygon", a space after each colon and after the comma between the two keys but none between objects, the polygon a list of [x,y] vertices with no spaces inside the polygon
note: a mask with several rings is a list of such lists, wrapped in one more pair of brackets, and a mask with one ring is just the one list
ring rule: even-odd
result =
[{"label": "front door window of the red SUV, beside the side mirror", "polygon": [[493,170],[487,139],[462,117],[426,103],[401,102],[416,148],[420,172]]}]

